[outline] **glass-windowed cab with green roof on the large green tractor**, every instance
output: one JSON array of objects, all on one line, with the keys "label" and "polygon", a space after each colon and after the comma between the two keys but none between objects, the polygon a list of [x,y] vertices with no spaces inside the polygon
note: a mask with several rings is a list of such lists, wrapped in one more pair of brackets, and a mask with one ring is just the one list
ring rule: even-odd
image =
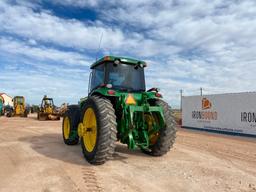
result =
[{"label": "glass-windowed cab with green roof on the large green tractor", "polygon": [[146,63],[129,58],[106,56],[92,66],[89,92],[107,87],[124,92],[145,91]]}]

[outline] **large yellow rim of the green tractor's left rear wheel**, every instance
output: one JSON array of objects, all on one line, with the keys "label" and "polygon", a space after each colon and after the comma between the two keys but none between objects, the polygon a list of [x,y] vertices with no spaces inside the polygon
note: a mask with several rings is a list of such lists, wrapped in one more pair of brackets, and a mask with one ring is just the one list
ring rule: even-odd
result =
[{"label": "large yellow rim of the green tractor's left rear wheel", "polygon": [[97,140],[97,121],[92,108],[88,108],[83,118],[83,143],[88,152],[92,152]]}]

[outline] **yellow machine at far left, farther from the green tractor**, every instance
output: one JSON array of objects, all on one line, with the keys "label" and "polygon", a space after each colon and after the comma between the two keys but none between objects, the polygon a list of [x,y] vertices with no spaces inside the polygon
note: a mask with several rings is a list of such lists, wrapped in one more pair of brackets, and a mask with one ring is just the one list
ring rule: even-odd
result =
[{"label": "yellow machine at far left, farther from the green tractor", "polygon": [[13,107],[6,107],[7,117],[28,117],[28,110],[25,104],[25,98],[23,96],[15,96],[13,99]]}]

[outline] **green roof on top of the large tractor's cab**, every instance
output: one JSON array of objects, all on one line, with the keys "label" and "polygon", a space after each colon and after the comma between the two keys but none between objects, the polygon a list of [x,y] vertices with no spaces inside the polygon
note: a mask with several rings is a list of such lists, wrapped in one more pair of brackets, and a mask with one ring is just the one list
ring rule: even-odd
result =
[{"label": "green roof on top of the large tractor's cab", "polygon": [[132,58],[128,58],[128,57],[117,57],[117,56],[108,55],[108,56],[102,57],[101,59],[94,62],[90,68],[93,69],[97,65],[100,65],[106,61],[115,61],[115,60],[120,60],[121,63],[131,64],[131,65],[138,65],[138,64],[143,64],[144,66],[147,65],[145,61],[132,59]]}]

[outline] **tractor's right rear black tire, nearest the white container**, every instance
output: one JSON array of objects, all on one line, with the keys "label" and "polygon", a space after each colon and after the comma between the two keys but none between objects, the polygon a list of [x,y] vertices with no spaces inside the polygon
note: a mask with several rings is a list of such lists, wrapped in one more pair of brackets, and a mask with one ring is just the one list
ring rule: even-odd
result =
[{"label": "tractor's right rear black tire, nearest the white container", "polygon": [[172,148],[176,138],[176,121],[168,103],[157,100],[156,105],[163,107],[165,126],[160,130],[157,142],[150,147],[150,150],[142,150],[144,153],[152,156],[162,156]]}]

